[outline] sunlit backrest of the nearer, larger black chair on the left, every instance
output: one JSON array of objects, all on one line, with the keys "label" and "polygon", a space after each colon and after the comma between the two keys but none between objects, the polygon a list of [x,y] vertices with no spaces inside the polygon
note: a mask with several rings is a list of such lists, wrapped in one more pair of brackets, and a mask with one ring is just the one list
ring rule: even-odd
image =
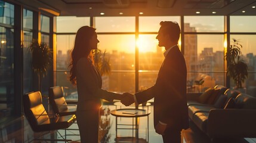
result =
[{"label": "sunlit backrest of the nearer, larger black chair on the left", "polygon": [[35,131],[38,125],[50,123],[49,116],[42,104],[40,91],[30,92],[23,95],[24,114],[31,128]]}]

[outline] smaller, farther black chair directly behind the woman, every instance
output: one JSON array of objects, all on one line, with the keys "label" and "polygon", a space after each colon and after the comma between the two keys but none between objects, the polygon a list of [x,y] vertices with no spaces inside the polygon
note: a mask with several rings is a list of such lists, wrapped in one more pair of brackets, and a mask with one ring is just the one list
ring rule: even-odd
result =
[{"label": "smaller, farther black chair directly behind the woman", "polygon": [[54,86],[49,88],[49,101],[55,114],[60,116],[66,116],[70,114],[76,114],[76,103],[67,104],[63,96],[63,87]]}]

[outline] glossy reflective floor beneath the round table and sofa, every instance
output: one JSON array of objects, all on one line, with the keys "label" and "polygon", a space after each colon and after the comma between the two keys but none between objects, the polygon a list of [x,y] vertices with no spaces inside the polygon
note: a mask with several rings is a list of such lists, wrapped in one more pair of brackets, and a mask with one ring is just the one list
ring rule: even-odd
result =
[{"label": "glossy reflective floor beneath the round table and sofa", "polygon": [[[109,108],[109,110],[115,110],[116,108],[134,108],[134,107],[122,107],[122,106],[116,106],[116,105],[104,105],[104,108]],[[153,128],[153,106],[150,105],[149,108],[147,107],[140,107],[145,110],[152,111],[149,114],[149,142],[150,143],[162,143],[162,136],[158,135],[158,133],[155,132],[155,129]],[[124,129],[124,130],[118,130],[118,138],[116,139],[116,117],[112,116],[111,114],[107,113],[107,110],[105,110],[102,113],[101,116],[101,124],[100,124],[100,137],[102,138],[103,134],[106,134],[106,138],[101,139],[101,142],[109,142],[109,143],[115,143],[115,142],[147,142],[147,117],[140,117],[139,119],[139,129],[138,129],[138,140],[135,138],[131,138],[132,136],[135,137],[135,132],[132,135],[132,130]],[[124,123],[124,124],[131,124],[132,119],[131,118],[118,118],[118,123]],[[107,125],[110,125],[109,128],[106,129]],[[73,125],[72,128],[77,128],[77,125]],[[76,131],[72,131],[72,133],[78,133]],[[181,133],[182,135],[182,142],[183,143],[255,143],[256,139],[254,138],[234,138],[234,139],[218,139],[211,141],[211,139],[208,138],[204,133],[202,133],[193,123],[190,123],[190,128],[187,130],[183,130]],[[72,139],[72,141],[79,141],[80,137],[71,135],[67,136],[67,138]],[[118,140],[118,141],[117,141]]]}]

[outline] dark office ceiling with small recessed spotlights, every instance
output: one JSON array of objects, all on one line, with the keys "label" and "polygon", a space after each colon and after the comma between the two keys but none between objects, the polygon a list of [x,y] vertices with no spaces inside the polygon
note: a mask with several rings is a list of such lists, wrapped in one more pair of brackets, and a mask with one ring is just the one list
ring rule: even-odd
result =
[{"label": "dark office ceiling with small recessed spotlights", "polygon": [[[62,16],[256,15],[255,0],[16,0]],[[242,12],[244,11],[244,12]],[[197,14],[196,12],[200,12]],[[215,13],[213,13],[215,12]],[[104,15],[101,15],[104,13]],[[139,14],[143,13],[143,14]]]}]

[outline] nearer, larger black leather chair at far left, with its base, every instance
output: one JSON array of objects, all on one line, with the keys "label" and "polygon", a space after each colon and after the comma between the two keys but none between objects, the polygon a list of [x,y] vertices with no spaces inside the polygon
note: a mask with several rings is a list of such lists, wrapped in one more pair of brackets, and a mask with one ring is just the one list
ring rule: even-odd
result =
[{"label": "nearer, larger black leather chair at far left, with its base", "polygon": [[[29,122],[30,127],[34,132],[45,132],[58,129],[67,129],[75,121],[76,117],[74,114],[69,116],[53,116],[47,114],[44,105],[42,104],[41,92],[30,92],[23,96],[23,107],[26,119]],[[59,133],[59,132],[58,132]],[[66,131],[65,131],[66,133]],[[59,133],[60,134],[60,133]],[[63,138],[63,136],[61,136]],[[33,140],[44,140],[44,141],[72,141],[70,139],[33,139]]]}]

